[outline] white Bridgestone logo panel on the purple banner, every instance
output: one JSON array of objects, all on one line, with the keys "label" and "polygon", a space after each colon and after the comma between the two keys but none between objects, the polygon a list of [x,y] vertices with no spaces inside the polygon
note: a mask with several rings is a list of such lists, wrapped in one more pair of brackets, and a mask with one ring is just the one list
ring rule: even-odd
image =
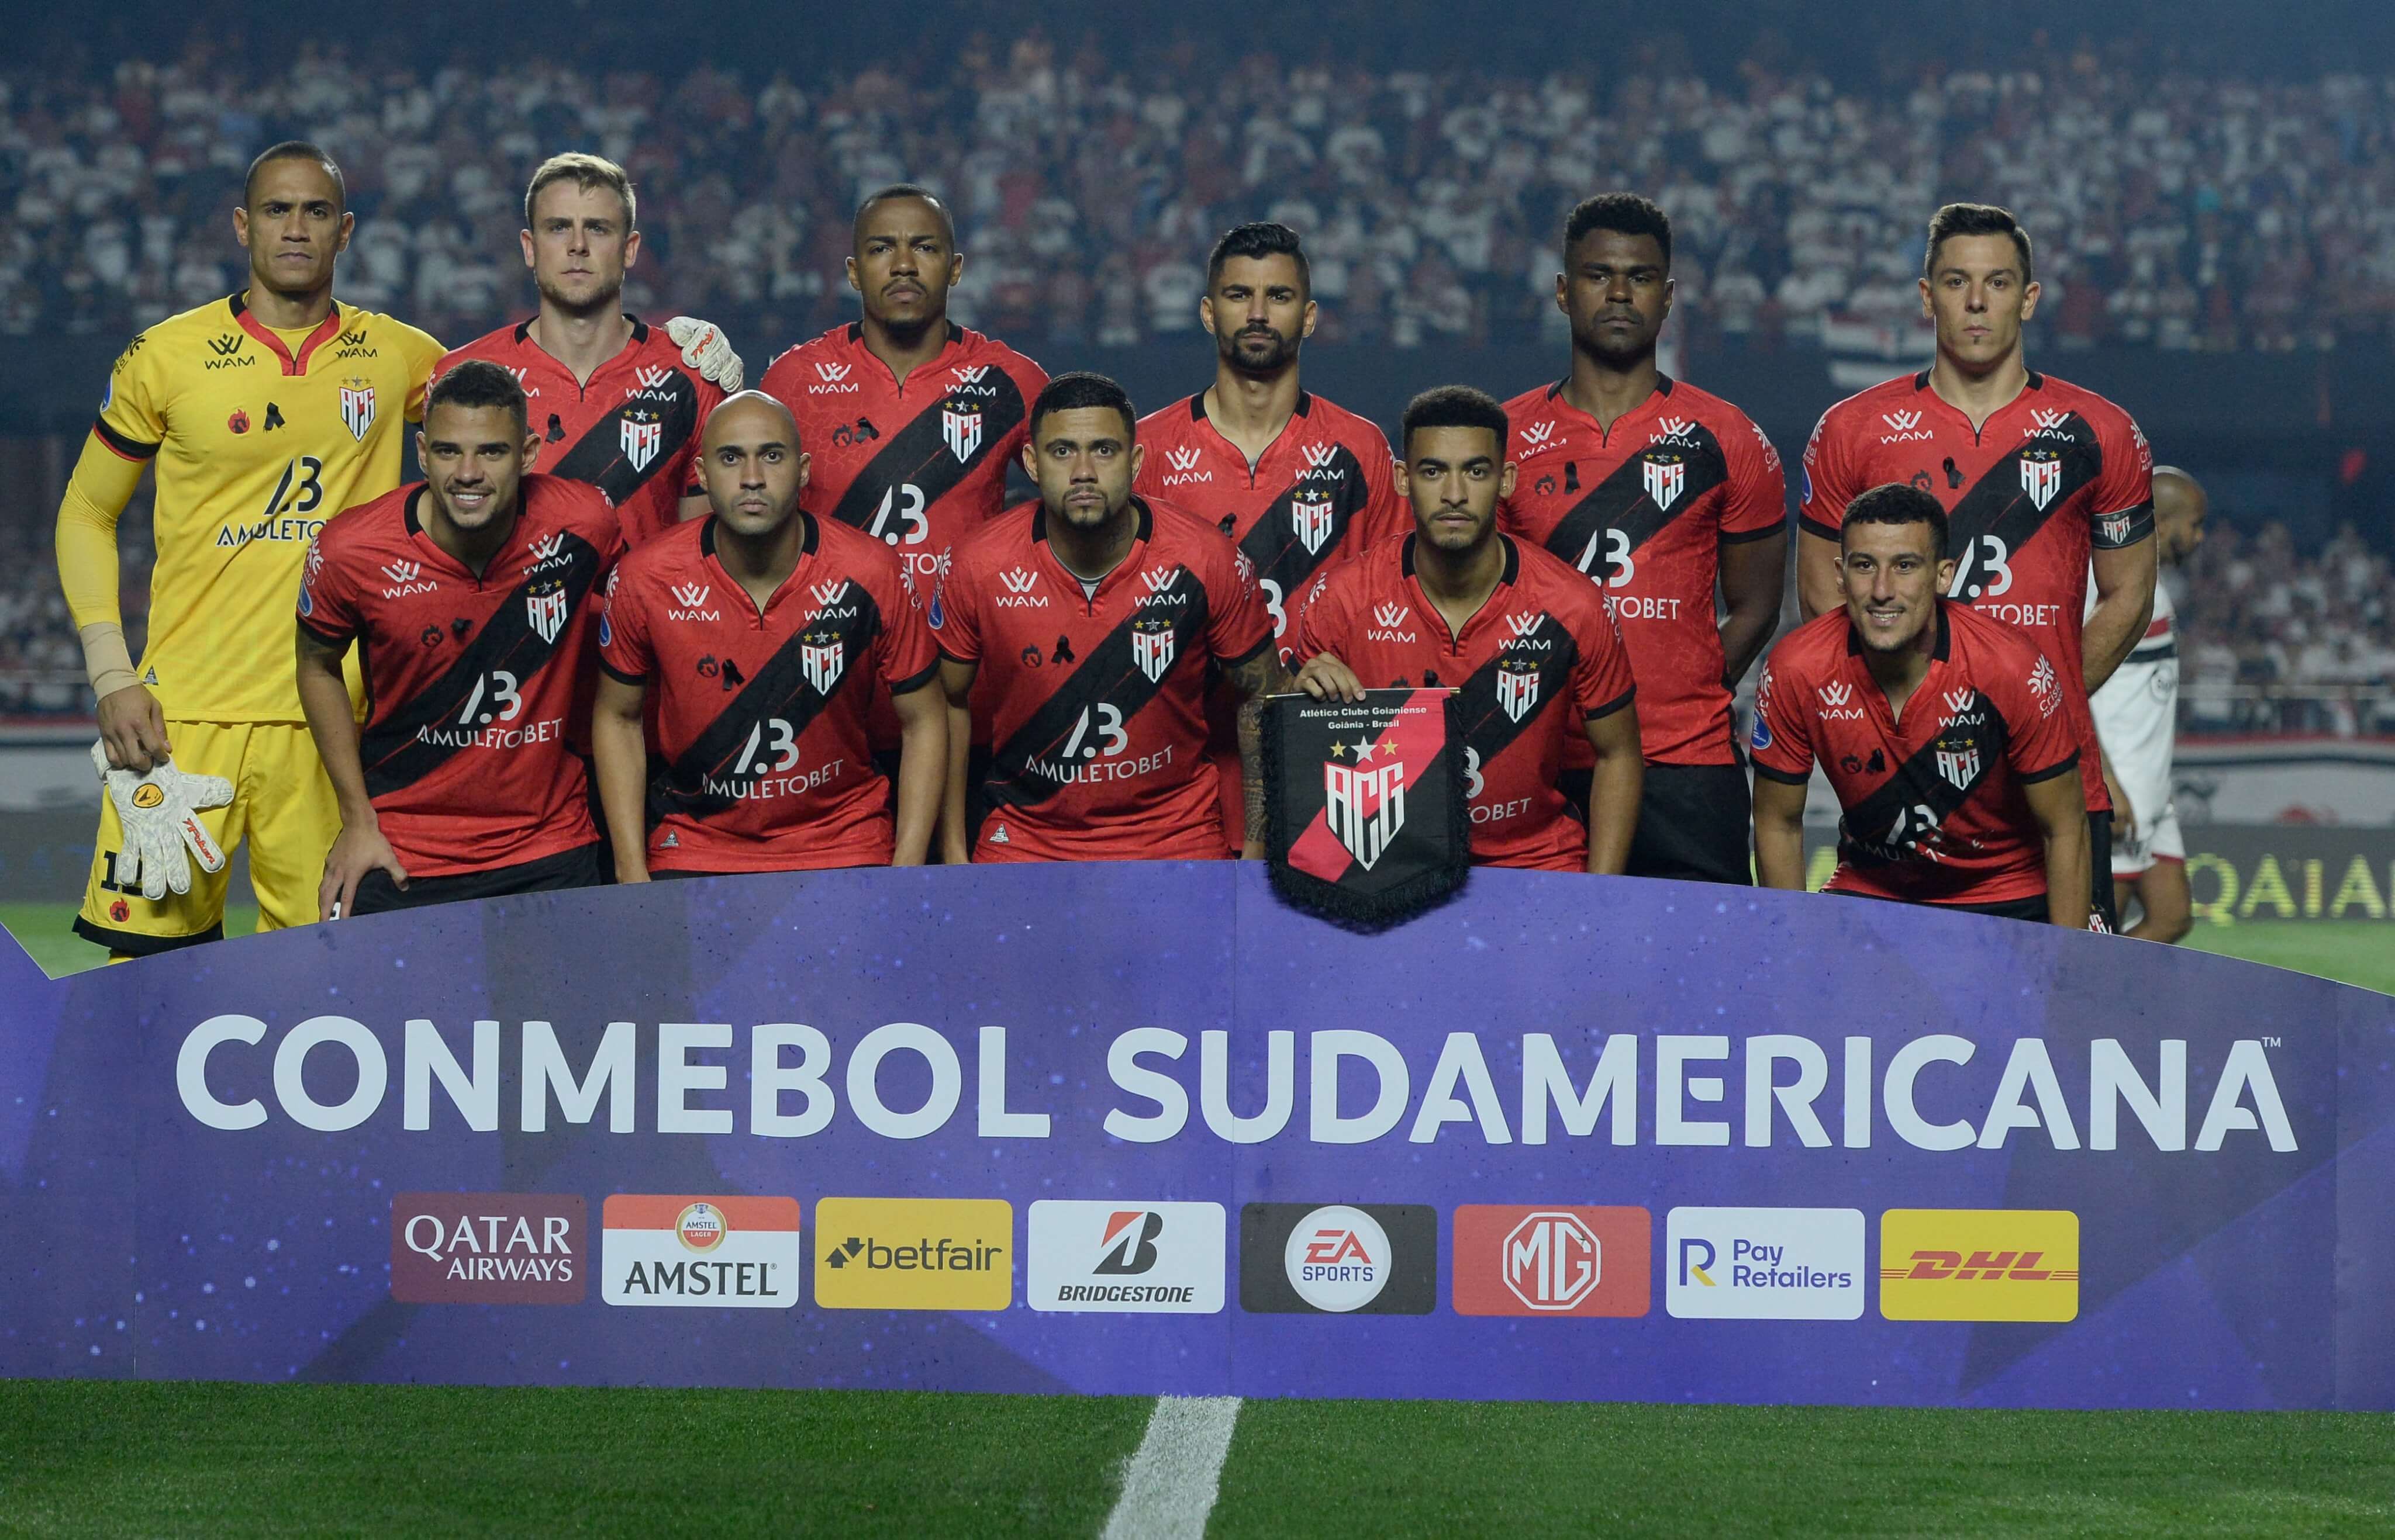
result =
[{"label": "white Bridgestone logo panel on the purple banner", "polygon": [[1226,1226],[1219,1202],[1035,1202],[1023,1303],[1214,1315]]}]

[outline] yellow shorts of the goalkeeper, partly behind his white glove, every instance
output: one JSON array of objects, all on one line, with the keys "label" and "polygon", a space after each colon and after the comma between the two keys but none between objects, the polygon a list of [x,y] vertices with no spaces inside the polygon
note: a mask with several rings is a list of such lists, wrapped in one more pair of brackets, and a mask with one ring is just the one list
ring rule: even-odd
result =
[{"label": "yellow shorts of the goalkeeper, partly behind his white glove", "polygon": [[74,934],[110,951],[148,956],[225,934],[225,884],[232,850],[249,841],[249,886],[259,893],[259,929],[307,924],[316,917],[323,857],[340,833],[340,805],[316,759],[316,740],[304,723],[283,721],[170,721],[175,766],[196,776],[232,781],[232,802],[211,807],[199,821],[225,853],[223,872],[192,862],[192,891],[151,903],[141,879],[117,881],[125,826],[101,793],[101,838],[84,884],[84,913]]}]

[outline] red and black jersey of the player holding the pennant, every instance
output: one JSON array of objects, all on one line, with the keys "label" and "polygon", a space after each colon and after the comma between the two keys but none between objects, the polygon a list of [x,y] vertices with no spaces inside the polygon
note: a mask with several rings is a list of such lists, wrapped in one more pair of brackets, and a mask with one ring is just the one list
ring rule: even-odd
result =
[{"label": "red and black jersey of the player holding the pennant", "polygon": [[1332,654],[1368,690],[1461,692],[1473,860],[1588,867],[1588,829],[1554,788],[1583,723],[1643,695],[1605,596],[1564,560],[1499,534],[1504,577],[1463,630],[1449,630],[1413,575],[1413,541],[1382,541],[1324,572],[1298,618],[1298,656]]}]

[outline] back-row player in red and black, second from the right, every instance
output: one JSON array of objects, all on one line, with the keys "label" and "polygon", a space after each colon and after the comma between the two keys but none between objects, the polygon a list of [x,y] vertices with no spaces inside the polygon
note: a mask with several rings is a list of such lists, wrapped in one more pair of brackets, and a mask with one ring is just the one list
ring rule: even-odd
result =
[{"label": "back-row player in red and black, second from the right", "polygon": [[[1648,199],[1609,192],[1571,211],[1554,304],[1571,321],[1571,374],[1506,402],[1518,477],[1499,522],[1585,572],[1621,625],[1645,752],[1629,872],[1744,884],[1748,793],[1729,695],[1779,623],[1779,450],[1655,364],[1672,220]],[[1581,800],[1588,750],[1566,750]]]}]

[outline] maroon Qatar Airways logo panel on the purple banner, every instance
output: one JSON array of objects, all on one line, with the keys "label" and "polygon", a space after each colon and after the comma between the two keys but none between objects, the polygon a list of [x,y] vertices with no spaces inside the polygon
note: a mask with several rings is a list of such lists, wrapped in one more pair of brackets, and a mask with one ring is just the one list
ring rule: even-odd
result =
[{"label": "maroon Qatar Airways logo panel on the purple banner", "polygon": [[580,1193],[398,1193],[390,1298],[402,1305],[580,1305]]}]

